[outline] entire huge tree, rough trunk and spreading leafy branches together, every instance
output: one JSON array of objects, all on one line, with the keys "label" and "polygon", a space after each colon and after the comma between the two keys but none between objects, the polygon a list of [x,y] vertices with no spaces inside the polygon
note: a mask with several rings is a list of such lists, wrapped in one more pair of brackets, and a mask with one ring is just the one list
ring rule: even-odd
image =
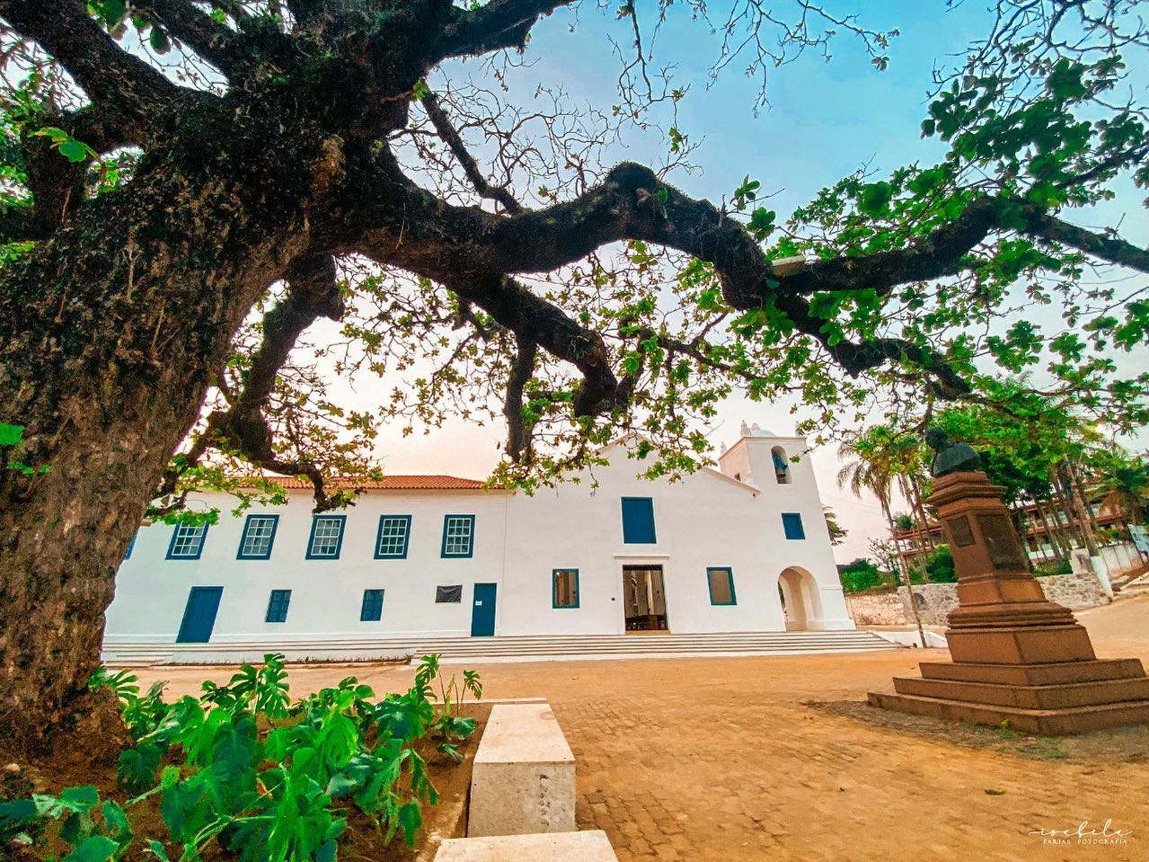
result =
[{"label": "entire huge tree, rough trunk and spreading leafy branches together", "polygon": [[[30,468],[0,472],[0,654],[22,671],[0,726],[37,693],[88,696],[148,500],[170,515],[254,468],[338,507],[324,477],[376,469],[380,423],[501,418],[496,478],[527,488],[627,429],[649,475],[692,469],[735,388],[795,393],[833,431],[1009,409],[995,375],[1030,370],[1143,423],[1149,377],[1115,355],[1149,303],[1111,276],[1143,279],[1149,252],[1080,217],[1149,182],[1135,6],[998,0],[934,83],[943,157],[826,177],[786,215],[765,157],[718,203],[676,187],[704,130],[657,36],[672,16],[717,34],[711,76],[835,39],[882,68],[895,33],[833,2],[0,0],[0,421],[20,429],[0,463]],[[614,38],[614,103],[510,85],[561,7]],[[657,163],[604,163],[653,128]],[[307,346],[317,322],[339,334]],[[394,394],[338,403],[332,375]]]}]

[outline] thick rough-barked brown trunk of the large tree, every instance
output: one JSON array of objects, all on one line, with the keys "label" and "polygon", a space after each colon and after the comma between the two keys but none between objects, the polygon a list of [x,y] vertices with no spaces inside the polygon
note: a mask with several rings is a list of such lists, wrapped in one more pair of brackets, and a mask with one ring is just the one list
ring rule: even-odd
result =
[{"label": "thick rough-barked brown trunk of the large tree", "polygon": [[5,455],[34,471],[0,469],[0,740],[17,753],[64,729],[119,741],[86,687],[115,572],[230,339],[306,245],[309,167],[290,167],[141,166],[0,274],[0,421],[26,426]]}]

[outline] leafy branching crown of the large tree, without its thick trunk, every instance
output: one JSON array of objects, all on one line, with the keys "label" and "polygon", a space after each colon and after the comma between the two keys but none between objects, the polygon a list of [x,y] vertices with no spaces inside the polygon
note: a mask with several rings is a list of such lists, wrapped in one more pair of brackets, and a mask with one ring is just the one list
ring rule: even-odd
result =
[{"label": "leafy branching crown of the large tree, without its thick trunk", "polygon": [[[1126,80],[1146,44],[1131,3],[1000,3],[923,123],[946,157],[847,177],[788,218],[756,200],[751,176],[768,166],[747,166],[720,206],[678,192],[692,145],[673,125],[655,170],[596,161],[635,123],[677,122],[663,109],[684,91],[660,66],[673,57],[649,48],[670,5],[619,9],[633,45],[618,45],[609,110],[578,108],[558,85],[500,92],[533,23],[564,5],[5,5],[13,265],[80,210],[122,200],[141,169],[162,170],[208,115],[249,126],[259,146],[265,130],[244,117],[291,102],[284,123],[314,126],[338,174],[308,207],[323,238],[234,336],[162,491],[222,484],[223,470],[200,468],[241,460],[317,480],[364,474],[380,422],[486,418],[496,401],[509,426],[500,477],[527,486],[632,426],[657,447],[653,474],[689,469],[732,387],[797,392],[825,428],[876,398],[894,410],[993,400],[997,369],[1039,367],[1050,394],[1121,429],[1141,423],[1146,378],[1117,374],[1112,352],[1141,344],[1149,305],[1095,274],[1144,271],[1149,253],[1071,218],[1149,177],[1144,103]],[[804,5],[693,11],[723,34],[712,74],[826,51],[832,31],[864,40],[880,67],[896,34]],[[378,54],[416,18],[426,44],[392,84],[398,61]],[[468,55],[485,59],[453,62]],[[196,134],[194,147],[224,159],[225,140]],[[771,265],[795,255],[796,271]],[[1059,306],[1064,329],[1034,324],[1034,306]],[[339,340],[293,353],[321,317],[341,322]],[[378,409],[332,403],[321,368],[378,374],[394,395]]]}]

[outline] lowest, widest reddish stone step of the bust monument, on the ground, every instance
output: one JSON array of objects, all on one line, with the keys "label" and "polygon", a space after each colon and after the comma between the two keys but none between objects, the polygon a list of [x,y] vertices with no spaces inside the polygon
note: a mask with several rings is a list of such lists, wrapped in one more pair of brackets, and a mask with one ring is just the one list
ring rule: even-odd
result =
[{"label": "lowest, widest reddish stone step of the bust monument, on the ground", "polygon": [[946,698],[870,692],[872,706],[901,713],[997,726],[1009,721],[1012,730],[1057,737],[1104,728],[1149,724],[1149,700],[1124,701],[1070,709],[1023,709],[1020,707],[967,703]]}]

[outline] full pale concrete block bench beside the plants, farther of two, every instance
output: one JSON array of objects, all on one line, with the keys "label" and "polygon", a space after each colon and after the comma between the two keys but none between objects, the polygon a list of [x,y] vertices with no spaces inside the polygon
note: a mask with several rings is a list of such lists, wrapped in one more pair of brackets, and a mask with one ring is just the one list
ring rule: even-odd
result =
[{"label": "full pale concrete block bench beside the plants, farther of two", "polygon": [[468,837],[576,829],[574,755],[550,706],[495,706],[475,753]]}]

